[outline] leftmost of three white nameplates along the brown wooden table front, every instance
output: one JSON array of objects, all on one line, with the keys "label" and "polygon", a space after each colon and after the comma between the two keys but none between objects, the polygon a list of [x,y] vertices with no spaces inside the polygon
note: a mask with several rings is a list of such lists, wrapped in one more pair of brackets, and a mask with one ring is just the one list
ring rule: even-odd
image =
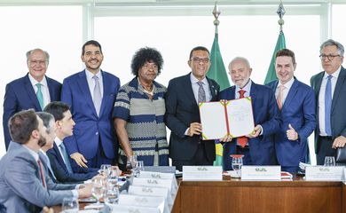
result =
[{"label": "leftmost of three white nameplates along the brown wooden table front", "polygon": [[221,166],[183,166],[183,180],[222,180]]}]

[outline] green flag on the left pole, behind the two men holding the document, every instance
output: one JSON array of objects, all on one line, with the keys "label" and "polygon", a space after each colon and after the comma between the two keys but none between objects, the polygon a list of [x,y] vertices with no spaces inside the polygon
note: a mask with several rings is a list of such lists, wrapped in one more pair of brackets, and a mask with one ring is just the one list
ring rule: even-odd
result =
[{"label": "green flag on the left pole, behind the two men holding the document", "polygon": [[209,67],[207,76],[214,79],[220,85],[220,91],[230,87],[227,72],[224,68],[224,60],[221,56],[220,47],[218,46],[218,36],[215,34],[213,47],[210,51],[211,66]]}]

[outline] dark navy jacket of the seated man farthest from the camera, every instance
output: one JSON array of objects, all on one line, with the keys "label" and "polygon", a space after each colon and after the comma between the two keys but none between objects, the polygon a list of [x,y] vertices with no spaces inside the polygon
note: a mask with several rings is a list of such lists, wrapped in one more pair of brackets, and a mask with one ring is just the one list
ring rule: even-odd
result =
[{"label": "dark navy jacket of the seated man farthest from the camera", "polygon": [[[78,171],[69,173],[67,166],[62,159],[58,146],[54,143],[53,148],[48,150],[47,155],[51,162],[51,170],[54,171],[55,177],[60,183],[82,182],[98,175],[98,169],[76,167]],[[71,162],[70,158],[68,158]]]}]

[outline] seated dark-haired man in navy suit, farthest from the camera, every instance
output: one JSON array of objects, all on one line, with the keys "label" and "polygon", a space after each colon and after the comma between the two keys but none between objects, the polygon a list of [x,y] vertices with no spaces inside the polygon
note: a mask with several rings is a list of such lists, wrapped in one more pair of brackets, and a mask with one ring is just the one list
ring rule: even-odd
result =
[{"label": "seated dark-haired man in navy suit, farthest from the camera", "polygon": [[59,101],[53,101],[44,108],[44,112],[52,114],[55,118],[56,138],[47,155],[57,180],[61,183],[80,182],[98,175],[98,169],[76,167],[76,172],[74,172],[71,168],[71,159],[63,143],[64,138],[72,136],[75,126],[69,106]]}]

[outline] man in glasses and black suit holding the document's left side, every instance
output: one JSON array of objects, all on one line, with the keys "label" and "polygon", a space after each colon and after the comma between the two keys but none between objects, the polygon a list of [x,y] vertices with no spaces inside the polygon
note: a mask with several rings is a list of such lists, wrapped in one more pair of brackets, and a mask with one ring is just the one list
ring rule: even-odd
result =
[{"label": "man in glasses and black suit holding the document's left side", "polygon": [[199,102],[215,101],[219,85],[206,77],[210,67],[209,51],[195,47],[188,65],[192,72],[172,79],[166,93],[166,125],[171,130],[169,156],[177,170],[184,165],[212,165],[214,140],[201,140]]}]

